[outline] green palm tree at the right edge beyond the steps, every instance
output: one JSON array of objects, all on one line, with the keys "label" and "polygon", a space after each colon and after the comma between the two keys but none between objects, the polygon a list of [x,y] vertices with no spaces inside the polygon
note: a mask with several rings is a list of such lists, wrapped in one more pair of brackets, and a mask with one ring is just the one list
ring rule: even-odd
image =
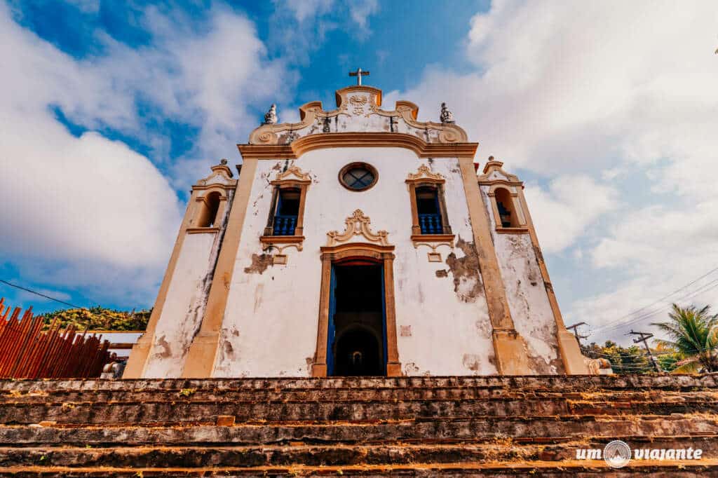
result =
[{"label": "green palm tree at the right edge beyond the steps", "polygon": [[673,372],[718,372],[718,314],[709,314],[710,306],[680,307],[673,304],[670,322],[653,323],[668,335],[656,340],[659,346],[676,351]]}]

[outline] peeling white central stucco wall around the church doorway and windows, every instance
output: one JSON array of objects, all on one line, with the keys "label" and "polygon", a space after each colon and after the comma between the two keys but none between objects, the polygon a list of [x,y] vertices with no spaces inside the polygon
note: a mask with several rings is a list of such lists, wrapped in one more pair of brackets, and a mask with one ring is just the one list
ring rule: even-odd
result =
[{"label": "peeling white central stucco wall around the church doorway and windows", "polygon": [[[340,169],[353,161],[368,162],[378,170],[373,188],[351,192],[338,182]],[[287,248],[286,266],[271,266],[262,261],[259,238],[271,206],[269,182],[286,164],[259,161],[214,376],[309,375],[317,344],[320,247],[326,245],[327,232],[344,230],[345,218],[356,209],[371,218],[374,232],[388,231],[388,242],[396,246],[398,355],[406,375],[497,372],[480,275],[475,267],[462,268],[471,262],[465,251],[472,253],[473,238],[457,159],[418,159],[413,151],[400,148],[322,149],[304,154],[294,161],[313,179],[304,211],[304,250]],[[446,178],[447,215],[459,244],[453,250],[438,249],[442,263],[430,263],[429,248],[416,249],[410,239],[411,202],[404,181],[420,164],[430,164],[433,172]]]}]

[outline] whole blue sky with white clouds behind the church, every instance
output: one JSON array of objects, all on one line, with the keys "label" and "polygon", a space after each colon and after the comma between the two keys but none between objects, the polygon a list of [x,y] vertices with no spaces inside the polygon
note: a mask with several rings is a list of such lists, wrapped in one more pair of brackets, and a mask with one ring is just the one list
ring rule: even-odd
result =
[{"label": "whole blue sky with white clouds behind the church", "polygon": [[331,108],[363,67],[388,107],[447,101],[476,160],[526,181],[566,322],[623,337],[718,299],[718,271],[680,289],[718,268],[717,20],[711,1],[9,1],[0,278],[151,306],[190,184],[241,161],[270,103]]}]

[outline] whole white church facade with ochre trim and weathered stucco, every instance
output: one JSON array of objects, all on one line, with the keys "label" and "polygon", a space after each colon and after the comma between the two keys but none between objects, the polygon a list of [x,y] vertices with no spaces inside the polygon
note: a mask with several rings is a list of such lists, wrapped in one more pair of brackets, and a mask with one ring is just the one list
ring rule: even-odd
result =
[{"label": "whole white church facade with ochre trim and weathered stucco", "polygon": [[192,188],[124,378],[587,373],[523,184],[381,90],[265,122]]}]

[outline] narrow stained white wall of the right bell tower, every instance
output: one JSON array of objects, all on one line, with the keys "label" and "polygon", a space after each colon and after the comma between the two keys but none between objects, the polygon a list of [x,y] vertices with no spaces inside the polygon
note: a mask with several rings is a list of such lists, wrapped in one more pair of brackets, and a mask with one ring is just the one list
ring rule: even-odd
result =
[{"label": "narrow stained white wall of the right bell tower", "polygon": [[[498,177],[498,173],[494,174],[495,177],[492,179],[506,179]],[[513,188],[515,187],[508,187],[508,189]],[[556,320],[541,270],[538,268],[531,236],[527,233],[497,233],[491,207],[494,198],[488,196],[490,187],[482,185],[480,189],[482,202],[490,220],[491,235],[508,308],[516,332],[526,340],[531,366],[540,374],[564,373],[564,365],[556,342]],[[521,208],[518,198],[515,198],[514,204],[517,208]],[[516,212],[523,218],[523,210]]]}]

